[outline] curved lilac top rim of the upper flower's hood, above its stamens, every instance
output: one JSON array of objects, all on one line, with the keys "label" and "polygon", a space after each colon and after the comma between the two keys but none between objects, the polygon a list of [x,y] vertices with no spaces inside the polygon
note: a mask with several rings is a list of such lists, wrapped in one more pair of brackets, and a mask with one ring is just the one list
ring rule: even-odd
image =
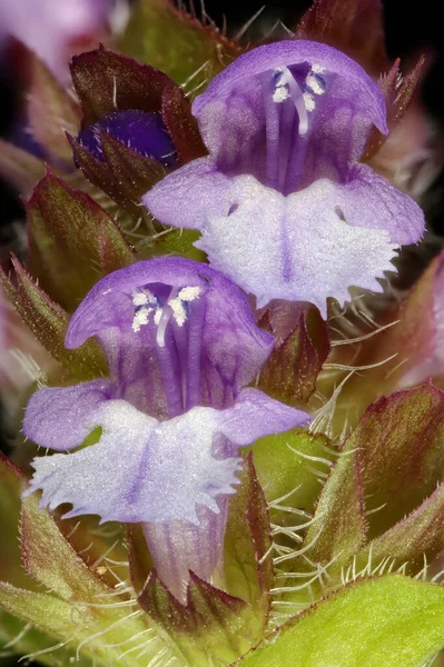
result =
[{"label": "curved lilac top rim of the upper flower's hood, above its stamens", "polygon": [[[307,40],[282,41],[258,47],[240,56],[218,74],[207,90],[196,98],[193,113],[198,118],[204,108],[229,93],[231,87],[244,78],[260,74],[282,66],[303,62],[316,63],[329,73],[345,77],[356,82],[363,93],[363,108],[381,132],[388,133],[384,97],[377,83],[365,70],[333,47]],[[355,100],[357,101],[357,100]]]}]

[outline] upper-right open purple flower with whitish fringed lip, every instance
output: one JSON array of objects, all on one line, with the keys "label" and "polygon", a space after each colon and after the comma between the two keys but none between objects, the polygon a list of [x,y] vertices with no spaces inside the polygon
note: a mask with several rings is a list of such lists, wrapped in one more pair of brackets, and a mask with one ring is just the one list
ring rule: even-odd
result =
[{"label": "upper-right open purple flower with whitish fringed lip", "polygon": [[142,198],[166,225],[198,229],[211,265],[257,298],[309,301],[381,290],[401,245],[424,229],[417,205],[362,158],[384,98],[356,62],[310,41],[238,58],[193,113],[209,156]]}]

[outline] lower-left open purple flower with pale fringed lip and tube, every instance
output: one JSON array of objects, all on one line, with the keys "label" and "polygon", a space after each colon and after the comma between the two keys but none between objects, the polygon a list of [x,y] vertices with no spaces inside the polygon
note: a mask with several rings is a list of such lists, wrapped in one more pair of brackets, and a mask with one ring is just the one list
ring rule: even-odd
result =
[{"label": "lower-left open purple flower with pale fringed lip and tube", "polygon": [[[98,444],[39,457],[27,492],[66,516],[141,522],[156,568],[180,599],[188,570],[220,563],[238,448],[308,420],[244,389],[273,337],[256,327],[241,291],[207,265],[162,258],[110,273],[70,321],[66,345],[100,341],[110,379],[34,394],[23,432],[69,451],[97,427]],[[61,425],[63,429],[61,432]]]}]

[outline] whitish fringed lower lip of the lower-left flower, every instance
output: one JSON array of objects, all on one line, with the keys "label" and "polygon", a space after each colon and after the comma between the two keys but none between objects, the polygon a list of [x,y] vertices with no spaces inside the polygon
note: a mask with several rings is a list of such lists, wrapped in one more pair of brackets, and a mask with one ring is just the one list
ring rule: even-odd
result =
[{"label": "whitish fringed lower lip of the lower-left flower", "polygon": [[[101,521],[187,521],[197,508],[219,514],[218,496],[235,492],[241,459],[223,450],[218,411],[194,408],[159,422],[124,400],[103,402],[95,414],[102,427],[97,445],[73,454],[38,457],[27,492],[41,489],[41,506],[70,502],[66,517],[95,514]],[[216,449],[215,449],[216,447]]]}]

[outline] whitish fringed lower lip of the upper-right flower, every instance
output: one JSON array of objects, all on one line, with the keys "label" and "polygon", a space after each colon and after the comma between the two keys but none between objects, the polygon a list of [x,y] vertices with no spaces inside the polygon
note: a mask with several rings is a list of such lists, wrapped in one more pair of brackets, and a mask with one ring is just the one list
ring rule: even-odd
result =
[{"label": "whitish fringed lower lip of the upper-right flower", "polygon": [[273,299],[309,301],[325,317],[327,297],[343,302],[351,286],[381,291],[377,278],[394,270],[399,242],[391,241],[392,220],[379,219],[379,229],[348,225],[341,209],[347,187],[323,179],[284,197],[250,176],[233,183],[236,210],[207,220],[195,245],[255,295],[258,307]]}]

